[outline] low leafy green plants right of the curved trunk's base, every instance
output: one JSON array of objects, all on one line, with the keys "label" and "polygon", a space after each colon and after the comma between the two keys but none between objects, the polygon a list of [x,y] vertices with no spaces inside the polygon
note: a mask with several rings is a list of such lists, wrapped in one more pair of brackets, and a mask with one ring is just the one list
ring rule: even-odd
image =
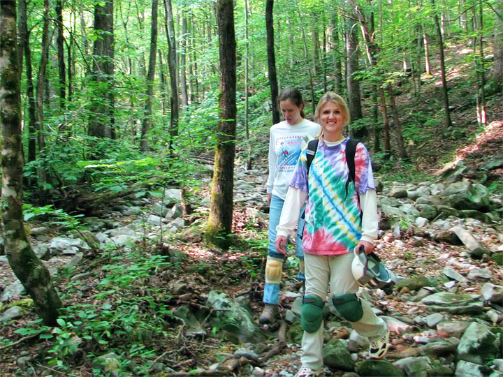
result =
[{"label": "low leafy green plants right of the curved trunk's base", "polygon": [[[68,281],[59,275],[59,286],[66,286],[61,299],[71,305],[61,310],[59,327],[48,327],[41,320],[15,330],[22,337],[35,336],[41,342],[39,360],[67,376],[75,367],[92,366],[93,376],[103,371],[103,355],[115,353],[117,371],[148,374],[153,362],[175,337],[171,297],[163,271],[175,268],[165,256],[129,251],[110,258],[100,256],[93,279]],[[110,360],[108,360],[109,362]],[[108,366],[110,368],[110,366]]]}]

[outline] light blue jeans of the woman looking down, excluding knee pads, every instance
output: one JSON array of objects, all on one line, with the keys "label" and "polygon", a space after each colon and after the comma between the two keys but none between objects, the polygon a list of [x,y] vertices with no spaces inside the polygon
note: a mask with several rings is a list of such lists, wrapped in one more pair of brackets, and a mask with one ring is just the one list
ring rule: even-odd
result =
[{"label": "light blue jeans of the woman looking down, excluding knee pads", "polygon": [[[281,217],[281,212],[283,209],[284,200],[278,196],[272,195],[270,207],[269,207],[269,249],[268,256],[272,258],[283,259],[285,256],[276,250],[276,227],[279,224],[279,218]],[[302,230],[304,228],[304,219],[302,219],[302,214],[304,213],[304,207],[300,209],[299,221],[298,221],[298,231],[296,236],[296,257],[299,259],[304,259],[304,251],[302,250],[302,239],[299,234],[302,235]],[[302,272],[298,272],[298,279],[304,281],[305,277]],[[279,284],[275,283],[265,283],[264,293],[263,293],[264,304],[275,304],[279,303]]]}]

